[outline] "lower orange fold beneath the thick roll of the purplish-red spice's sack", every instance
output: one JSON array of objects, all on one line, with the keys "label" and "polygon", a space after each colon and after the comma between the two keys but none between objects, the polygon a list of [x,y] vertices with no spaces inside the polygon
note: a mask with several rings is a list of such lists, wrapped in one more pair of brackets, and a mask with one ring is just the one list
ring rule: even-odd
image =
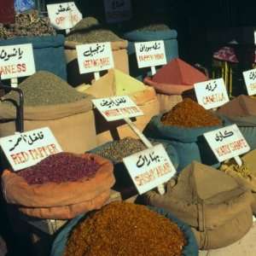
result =
[{"label": "lower orange fold beneath the thick roll of the purplish-red spice's sack", "polygon": [[35,218],[69,219],[91,210],[100,209],[109,199],[110,189],[89,201],[63,207],[19,207],[20,212]]}]

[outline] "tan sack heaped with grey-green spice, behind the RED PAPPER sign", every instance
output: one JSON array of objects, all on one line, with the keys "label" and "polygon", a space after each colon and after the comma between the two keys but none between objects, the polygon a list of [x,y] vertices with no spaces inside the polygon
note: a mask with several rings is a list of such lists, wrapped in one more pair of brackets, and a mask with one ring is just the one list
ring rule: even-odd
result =
[{"label": "tan sack heaped with grey-green spice, behind the RED PAPPER sign", "polygon": [[[73,89],[53,73],[40,71],[24,80],[19,88],[24,93],[24,130],[48,126],[67,152],[84,153],[96,147],[95,118],[92,96]],[[10,92],[0,102],[0,137],[16,131],[15,102],[18,95]]]}]

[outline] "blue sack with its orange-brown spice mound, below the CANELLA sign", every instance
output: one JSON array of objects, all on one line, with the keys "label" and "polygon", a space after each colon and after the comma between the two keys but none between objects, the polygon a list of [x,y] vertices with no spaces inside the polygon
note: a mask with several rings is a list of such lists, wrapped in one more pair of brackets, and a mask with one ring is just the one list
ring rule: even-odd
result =
[{"label": "blue sack with its orange-brown spice mound, below the CANELLA sign", "polygon": [[143,132],[147,137],[164,139],[172,144],[177,150],[179,172],[192,160],[219,166],[203,134],[225,125],[230,125],[227,119],[186,98],[171,111],[154,116]]}]

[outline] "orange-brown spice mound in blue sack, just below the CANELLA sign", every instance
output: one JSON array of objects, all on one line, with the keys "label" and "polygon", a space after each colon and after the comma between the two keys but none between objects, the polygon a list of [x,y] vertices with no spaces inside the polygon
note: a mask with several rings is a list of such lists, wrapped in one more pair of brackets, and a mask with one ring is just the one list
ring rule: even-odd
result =
[{"label": "orange-brown spice mound in blue sack, just below the CANELLA sign", "polygon": [[183,102],[177,103],[170,112],[165,113],[161,118],[161,122],[164,125],[174,125],[179,127],[221,125],[221,119],[218,119],[213,113],[189,98],[184,99]]}]

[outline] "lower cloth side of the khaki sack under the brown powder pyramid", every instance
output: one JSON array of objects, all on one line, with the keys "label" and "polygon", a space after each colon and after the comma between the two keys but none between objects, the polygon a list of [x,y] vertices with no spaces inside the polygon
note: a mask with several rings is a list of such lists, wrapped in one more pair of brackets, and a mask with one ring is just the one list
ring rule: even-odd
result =
[{"label": "lower cloth side of the khaki sack under the brown powder pyramid", "polygon": [[214,230],[196,230],[192,228],[195,239],[202,250],[227,247],[239,241],[253,225],[252,209],[247,207],[235,218]]}]

